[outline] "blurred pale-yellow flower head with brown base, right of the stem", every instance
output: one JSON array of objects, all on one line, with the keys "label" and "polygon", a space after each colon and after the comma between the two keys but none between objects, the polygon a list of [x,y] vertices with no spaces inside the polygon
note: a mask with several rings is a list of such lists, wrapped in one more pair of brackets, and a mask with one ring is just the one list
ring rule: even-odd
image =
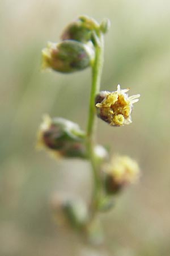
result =
[{"label": "blurred pale-yellow flower head with brown base, right of the stem", "polygon": [[125,185],[135,183],[139,178],[138,163],[129,156],[114,156],[111,163],[104,167],[105,189],[108,193],[117,193]]}]

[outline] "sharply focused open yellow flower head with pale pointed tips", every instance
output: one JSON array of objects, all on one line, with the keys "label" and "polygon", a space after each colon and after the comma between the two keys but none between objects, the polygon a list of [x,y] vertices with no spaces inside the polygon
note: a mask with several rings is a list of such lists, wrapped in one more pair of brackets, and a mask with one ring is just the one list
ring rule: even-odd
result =
[{"label": "sharply focused open yellow flower head with pale pointed tips", "polygon": [[131,123],[133,104],[138,102],[140,94],[128,96],[128,89],[117,85],[115,92],[103,91],[96,96],[97,116],[111,126],[123,126]]}]

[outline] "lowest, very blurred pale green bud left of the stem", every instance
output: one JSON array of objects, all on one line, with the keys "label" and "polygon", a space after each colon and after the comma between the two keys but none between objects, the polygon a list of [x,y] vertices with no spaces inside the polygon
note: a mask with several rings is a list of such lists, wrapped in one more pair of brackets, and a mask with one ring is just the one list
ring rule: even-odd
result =
[{"label": "lowest, very blurred pale green bud left of the stem", "polygon": [[58,225],[82,229],[88,221],[88,210],[82,200],[55,196],[51,202],[54,217]]}]

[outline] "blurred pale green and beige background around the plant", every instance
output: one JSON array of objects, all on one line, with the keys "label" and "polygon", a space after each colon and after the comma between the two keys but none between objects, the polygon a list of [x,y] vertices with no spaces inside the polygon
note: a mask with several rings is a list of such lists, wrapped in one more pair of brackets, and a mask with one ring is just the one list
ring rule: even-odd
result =
[{"label": "blurred pale green and beige background around the plant", "polygon": [[[101,216],[106,238],[99,247],[54,225],[49,207],[56,191],[90,196],[88,163],[56,162],[35,150],[44,113],[86,127],[90,69],[40,71],[41,49],[80,14],[111,20],[101,88],[121,84],[130,95],[141,94],[131,125],[98,121],[99,142],[137,159],[142,170],[139,184]],[[0,255],[169,256],[170,2],[1,0],[0,30]]]}]

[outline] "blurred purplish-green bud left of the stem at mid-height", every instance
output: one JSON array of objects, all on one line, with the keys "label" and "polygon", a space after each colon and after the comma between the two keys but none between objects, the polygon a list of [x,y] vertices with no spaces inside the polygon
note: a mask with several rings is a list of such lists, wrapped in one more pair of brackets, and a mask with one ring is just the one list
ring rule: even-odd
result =
[{"label": "blurred purplish-green bud left of the stem at mid-height", "polygon": [[38,146],[60,156],[86,158],[84,138],[76,123],[45,116],[38,133]]}]

